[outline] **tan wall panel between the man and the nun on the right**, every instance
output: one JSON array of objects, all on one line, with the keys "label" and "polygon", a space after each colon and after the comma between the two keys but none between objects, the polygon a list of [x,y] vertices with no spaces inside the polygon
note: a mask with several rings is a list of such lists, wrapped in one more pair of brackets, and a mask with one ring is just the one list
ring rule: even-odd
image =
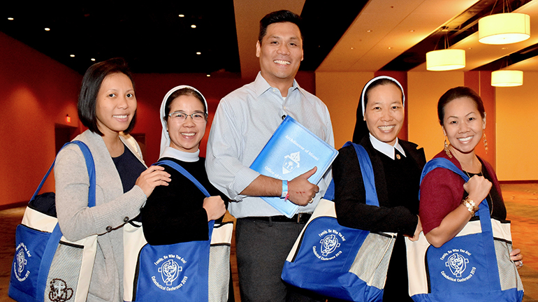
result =
[{"label": "tan wall panel between the man and the nun on the right", "polygon": [[373,77],[373,72],[316,73],[316,95],[330,112],[336,149],[353,138],[358,100],[363,86]]}]

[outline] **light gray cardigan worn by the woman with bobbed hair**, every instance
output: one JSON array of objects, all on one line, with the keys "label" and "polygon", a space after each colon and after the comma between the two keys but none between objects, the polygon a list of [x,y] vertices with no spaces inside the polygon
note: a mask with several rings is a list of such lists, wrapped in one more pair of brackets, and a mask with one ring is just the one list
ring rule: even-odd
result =
[{"label": "light gray cardigan worn by the woman with bobbed hair", "polygon": [[[141,154],[138,145],[134,150],[134,144],[120,138],[135,156]],[[124,194],[122,180],[99,134],[87,130],[75,140],[86,143],[94,157],[96,206],[88,208],[89,177],[82,151],[77,145],[68,145],[59,152],[54,166],[60,229],[72,241],[99,235],[87,301],[123,301],[122,227],[140,213],[146,196],[136,185]]]}]

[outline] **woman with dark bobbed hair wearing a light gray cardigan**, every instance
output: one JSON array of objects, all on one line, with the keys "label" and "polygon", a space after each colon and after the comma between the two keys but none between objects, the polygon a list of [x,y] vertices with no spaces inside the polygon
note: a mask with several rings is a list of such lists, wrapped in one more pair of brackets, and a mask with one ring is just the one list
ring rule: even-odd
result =
[{"label": "woman with dark bobbed hair wearing a light gray cardigan", "polygon": [[68,240],[97,237],[87,301],[123,301],[122,226],[140,213],[147,196],[170,175],[161,166],[147,168],[138,144],[128,141],[136,120],[136,96],[123,59],[89,67],[82,79],[78,115],[88,130],[75,140],[92,151],[96,171],[96,206],[88,208],[89,178],[76,145],[57,155],[54,167],[56,208]]}]

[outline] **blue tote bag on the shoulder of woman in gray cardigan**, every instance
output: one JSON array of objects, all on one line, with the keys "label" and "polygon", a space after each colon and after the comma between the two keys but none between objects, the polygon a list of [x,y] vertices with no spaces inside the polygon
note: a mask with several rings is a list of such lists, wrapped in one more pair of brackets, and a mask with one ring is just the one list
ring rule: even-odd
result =
[{"label": "blue tote bag on the shoulder of woman in gray cardigan", "polygon": [[[88,206],[93,207],[96,187],[94,159],[87,145],[81,141],[66,143],[64,147],[72,143],[80,147],[85,157],[89,175]],[[54,162],[31,197],[22,223],[15,231],[15,257],[8,291],[15,301],[82,302],[87,298],[97,236],[75,242],[66,240],[56,218],[54,199],[36,198]],[[46,211],[50,209],[54,210]]]}]

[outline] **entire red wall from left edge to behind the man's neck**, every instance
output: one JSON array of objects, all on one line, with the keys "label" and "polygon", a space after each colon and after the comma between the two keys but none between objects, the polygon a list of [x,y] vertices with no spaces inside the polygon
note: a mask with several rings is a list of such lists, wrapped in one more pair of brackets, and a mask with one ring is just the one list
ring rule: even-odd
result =
[{"label": "entire red wall from left edge to behind the man's neck", "polygon": [[[312,72],[299,72],[301,87],[315,93]],[[78,127],[76,102],[82,75],[41,52],[0,32],[0,208],[28,201],[52,164],[56,124]],[[135,74],[138,120],[133,134],[145,134],[147,164],[157,161],[161,142],[159,108],[169,89],[191,85],[208,100],[208,128],[201,145],[205,147],[212,117],[220,99],[251,82],[239,75]],[[65,121],[66,115],[71,123]],[[43,192],[53,191],[54,182],[45,183]]]}]

